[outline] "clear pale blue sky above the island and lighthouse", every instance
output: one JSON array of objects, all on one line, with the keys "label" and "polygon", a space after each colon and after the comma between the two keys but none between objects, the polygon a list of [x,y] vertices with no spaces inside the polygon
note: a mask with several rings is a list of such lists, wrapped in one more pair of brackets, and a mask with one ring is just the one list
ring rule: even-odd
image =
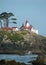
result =
[{"label": "clear pale blue sky above the island and lighthouse", "polygon": [[0,13],[12,12],[17,18],[17,24],[9,26],[20,27],[26,20],[39,34],[46,36],[46,0],[0,0]]}]

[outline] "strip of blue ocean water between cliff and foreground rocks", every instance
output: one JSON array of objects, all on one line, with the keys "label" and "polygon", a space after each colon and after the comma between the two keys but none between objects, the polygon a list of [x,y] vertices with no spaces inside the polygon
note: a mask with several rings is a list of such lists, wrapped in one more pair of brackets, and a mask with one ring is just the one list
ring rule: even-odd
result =
[{"label": "strip of blue ocean water between cliff and foreground rocks", "polygon": [[17,62],[24,62],[28,64],[29,61],[36,60],[38,55],[8,55],[8,54],[0,54],[0,60],[16,60]]}]

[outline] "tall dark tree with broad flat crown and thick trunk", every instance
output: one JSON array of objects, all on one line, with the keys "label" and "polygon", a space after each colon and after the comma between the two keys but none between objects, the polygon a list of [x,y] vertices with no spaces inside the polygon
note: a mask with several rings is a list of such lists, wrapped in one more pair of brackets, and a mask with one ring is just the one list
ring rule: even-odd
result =
[{"label": "tall dark tree with broad flat crown and thick trunk", "polygon": [[10,18],[11,16],[14,16],[14,14],[11,13],[11,12],[10,12],[10,13],[3,12],[3,13],[0,14],[0,16],[1,16],[1,18],[3,19],[3,21],[4,21],[4,27],[8,27],[9,18]]}]

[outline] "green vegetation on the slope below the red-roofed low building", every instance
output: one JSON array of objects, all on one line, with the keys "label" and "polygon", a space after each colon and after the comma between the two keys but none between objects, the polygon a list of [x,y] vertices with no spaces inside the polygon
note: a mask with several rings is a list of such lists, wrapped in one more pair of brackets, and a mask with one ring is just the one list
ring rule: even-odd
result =
[{"label": "green vegetation on the slope below the red-roofed low building", "polygon": [[23,36],[20,33],[13,33],[8,31],[0,31],[0,42],[3,38],[10,39],[12,42],[21,41],[23,40]]}]

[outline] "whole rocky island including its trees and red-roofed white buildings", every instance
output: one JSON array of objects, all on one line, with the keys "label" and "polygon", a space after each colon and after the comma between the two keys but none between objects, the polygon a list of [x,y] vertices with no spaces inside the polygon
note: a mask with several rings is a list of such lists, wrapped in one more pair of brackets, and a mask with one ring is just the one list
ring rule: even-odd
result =
[{"label": "whole rocky island including its trees and red-roofed white buildings", "polygon": [[[9,27],[11,16],[14,16],[11,12],[0,14],[0,54],[46,54],[46,37],[39,35],[38,30],[28,20],[20,28]],[[15,21],[16,18],[10,20]]]}]

